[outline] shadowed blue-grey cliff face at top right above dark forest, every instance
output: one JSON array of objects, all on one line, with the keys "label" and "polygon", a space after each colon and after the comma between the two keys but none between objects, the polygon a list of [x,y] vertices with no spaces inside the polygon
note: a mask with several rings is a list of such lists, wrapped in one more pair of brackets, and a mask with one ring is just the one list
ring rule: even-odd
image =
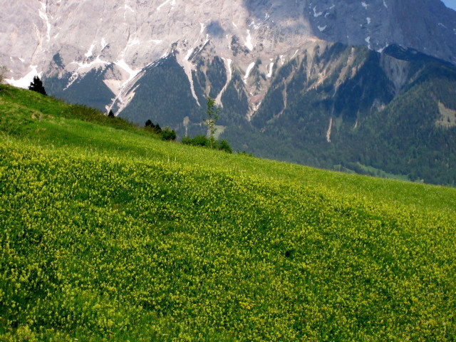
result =
[{"label": "shadowed blue-grey cliff face at top right above dark forest", "polygon": [[456,12],[441,1],[310,1],[313,32],[321,39],[367,45],[398,44],[456,62]]}]

